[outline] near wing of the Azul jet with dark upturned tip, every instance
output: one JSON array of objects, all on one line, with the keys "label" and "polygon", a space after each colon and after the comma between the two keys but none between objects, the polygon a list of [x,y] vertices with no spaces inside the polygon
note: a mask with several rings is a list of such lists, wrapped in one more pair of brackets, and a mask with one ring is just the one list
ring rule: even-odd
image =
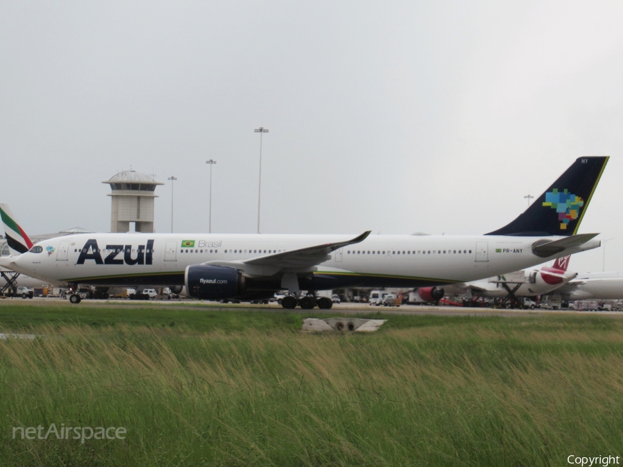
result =
[{"label": "near wing of the Azul jet with dark upturned tip", "polygon": [[236,268],[249,276],[271,276],[279,272],[307,272],[314,266],[327,261],[329,254],[343,246],[358,244],[368,238],[370,230],[347,241],[337,241],[299,248],[298,250],[282,251],[272,255],[260,256],[244,261],[209,261],[204,264]]}]

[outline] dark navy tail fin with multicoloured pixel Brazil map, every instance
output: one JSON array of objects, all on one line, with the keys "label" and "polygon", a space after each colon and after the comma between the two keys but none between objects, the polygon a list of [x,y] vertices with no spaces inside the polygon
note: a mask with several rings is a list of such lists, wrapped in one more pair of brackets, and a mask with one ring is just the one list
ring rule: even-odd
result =
[{"label": "dark navy tail fin with multicoloured pixel Brazil map", "polygon": [[575,235],[608,159],[608,156],[578,158],[523,214],[485,235]]}]

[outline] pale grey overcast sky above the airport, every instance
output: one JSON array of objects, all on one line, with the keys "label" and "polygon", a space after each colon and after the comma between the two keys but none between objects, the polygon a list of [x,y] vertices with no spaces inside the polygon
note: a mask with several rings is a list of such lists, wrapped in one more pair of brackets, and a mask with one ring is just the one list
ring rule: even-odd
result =
[{"label": "pale grey overcast sky above the airport", "polygon": [[[110,230],[155,174],[156,231],[480,234],[579,156],[580,232],[623,271],[620,1],[1,1],[0,201],[27,232]],[[570,268],[602,271],[602,249]]]}]

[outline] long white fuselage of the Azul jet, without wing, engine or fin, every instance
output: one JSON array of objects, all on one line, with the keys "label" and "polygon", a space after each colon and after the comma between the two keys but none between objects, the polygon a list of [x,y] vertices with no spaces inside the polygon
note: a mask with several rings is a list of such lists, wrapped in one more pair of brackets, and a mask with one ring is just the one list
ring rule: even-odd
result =
[{"label": "long white fuselage of the Azul jet, without wing, engine or fin", "polygon": [[[349,235],[245,234],[78,234],[40,241],[9,266],[54,282],[96,285],[181,285],[187,266],[244,262]],[[309,271],[302,289],[343,286],[431,286],[469,282],[540,264],[544,260],[595,248],[588,241],[564,253],[538,257],[532,245],[561,237],[496,235],[370,235],[335,250]],[[40,248],[37,248],[40,247]],[[39,253],[35,253],[39,250]],[[281,289],[280,274],[258,277],[256,289]],[[306,275],[307,274],[307,275]]]}]

